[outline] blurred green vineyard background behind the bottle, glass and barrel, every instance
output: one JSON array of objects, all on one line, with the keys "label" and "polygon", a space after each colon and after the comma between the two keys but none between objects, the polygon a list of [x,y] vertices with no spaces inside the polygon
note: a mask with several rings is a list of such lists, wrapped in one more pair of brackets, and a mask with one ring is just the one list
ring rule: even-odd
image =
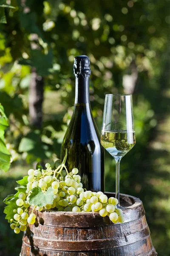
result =
[{"label": "blurred green vineyard background behind the bottle, glass and barrel", "polygon": [[[170,256],[170,0],[0,0],[0,102],[12,163],[0,172],[0,256],[19,256],[22,234],[3,214],[15,180],[60,157],[74,105],[73,61],[91,59],[90,99],[101,130],[106,93],[133,93],[136,146],[122,159],[120,191],[144,204],[153,245]],[[5,23],[6,22],[6,23]],[[106,190],[115,163],[105,152]]]}]

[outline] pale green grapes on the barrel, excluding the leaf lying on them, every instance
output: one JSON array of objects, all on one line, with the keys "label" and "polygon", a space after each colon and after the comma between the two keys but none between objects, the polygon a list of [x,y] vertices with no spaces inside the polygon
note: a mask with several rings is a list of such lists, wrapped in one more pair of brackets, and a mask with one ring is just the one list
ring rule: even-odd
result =
[{"label": "pale green grapes on the barrel, excluding the leaf lying on them", "polygon": [[53,204],[46,204],[44,207],[32,205],[38,211],[54,209],[65,212],[99,212],[102,217],[108,216],[113,223],[125,221],[122,210],[116,206],[116,198],[108,198],[103,192],[91,192],[82,188],[77,168],[68,173],[64,163],[55,170],[49,163],[45,167],[46,169],[28,171],[26,193],[18,195],[16,209],[13,210],[14,218],[10,220],[11,229],[15,233],[26,230],[27,224],[35,223],[36,215],[33,211],[29,214],[29,196],[35,187],[40,187],[43,193],[51,187],[54,193]]}]

